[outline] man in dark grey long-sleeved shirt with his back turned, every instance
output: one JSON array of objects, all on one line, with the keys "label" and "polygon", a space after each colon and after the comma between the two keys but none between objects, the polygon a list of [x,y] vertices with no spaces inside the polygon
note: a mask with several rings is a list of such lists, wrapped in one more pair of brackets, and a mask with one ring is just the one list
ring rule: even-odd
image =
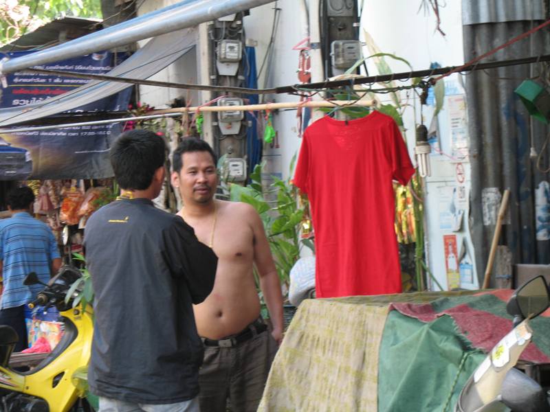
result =
[{"label": "man in dark grey long-sleeved shirt with his back turned", "polygon": [[203,345],[192,304],[210,294],[217,257],[179,216],[153,206],[162,138],[131,130],[109,156],[122,193],[85,229],[96,293],[90,389],[100,412],[198,412]]}]

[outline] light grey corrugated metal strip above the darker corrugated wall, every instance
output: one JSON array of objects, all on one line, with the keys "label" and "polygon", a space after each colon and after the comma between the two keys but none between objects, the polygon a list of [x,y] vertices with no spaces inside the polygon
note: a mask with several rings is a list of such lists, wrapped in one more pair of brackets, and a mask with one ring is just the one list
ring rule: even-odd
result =
[{"label": "light grey corrugated metal strip above the darker corrugated wall", "polygon": [[541,0],[462,0],[462,24],[544,20]]}]

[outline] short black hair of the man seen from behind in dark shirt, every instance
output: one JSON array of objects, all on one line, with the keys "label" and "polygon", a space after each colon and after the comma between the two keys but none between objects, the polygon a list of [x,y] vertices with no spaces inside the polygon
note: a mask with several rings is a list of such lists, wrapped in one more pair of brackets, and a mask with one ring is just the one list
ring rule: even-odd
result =
[{"label": "short black hair of the man seen from behind in dark shirt", "polygon": [[122,189],[145,190],[151,186],[155,171],[164,166],[166,144],[150,130],[129,130],[116,139],[109,159]]}]

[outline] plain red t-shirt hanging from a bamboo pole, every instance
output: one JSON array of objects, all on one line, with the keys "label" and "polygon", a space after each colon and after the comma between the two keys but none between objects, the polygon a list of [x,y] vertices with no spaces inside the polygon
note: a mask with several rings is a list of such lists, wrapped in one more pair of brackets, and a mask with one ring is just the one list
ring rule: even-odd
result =
[{"label": "plain red t-shirt hanging from a bamboo pole", "polygon": [[317,297],[401,292],[392,181],[414,172],[397,124],[378,111],[305,130],[294,184],[311,204]]}]

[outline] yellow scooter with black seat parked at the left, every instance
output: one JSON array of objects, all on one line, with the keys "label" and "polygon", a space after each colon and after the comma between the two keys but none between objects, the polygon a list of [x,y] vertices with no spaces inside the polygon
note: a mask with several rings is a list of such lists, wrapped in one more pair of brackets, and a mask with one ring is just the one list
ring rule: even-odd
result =
[{"label": "yellow scooter with black seat parked at the left", "polygon": [[[50,279],[30,308],[55,306],[64,323],[65,332],[54,350],[30,371],[14,371],[9,367],[10,356],[18,341],[17,332],[0,325],[0,412],[89,412],[93,411],[72,380],[74,374],[87,367],[94,332],[91,306],[82,310],[72,307],[65,296],[80,271],[63,266]],[[35,273],[25,279],[25,285],[41,284]]]}]

